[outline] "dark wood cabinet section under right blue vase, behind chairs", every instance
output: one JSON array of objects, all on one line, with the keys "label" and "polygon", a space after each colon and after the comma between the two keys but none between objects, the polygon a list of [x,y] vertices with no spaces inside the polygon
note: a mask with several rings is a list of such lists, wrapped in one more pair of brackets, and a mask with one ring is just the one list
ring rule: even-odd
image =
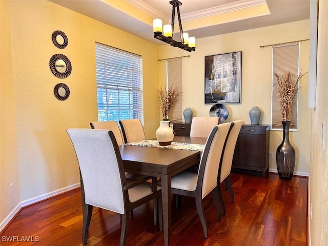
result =
[{"label": "dark wood cabinet section under right blue vase, behind chairs", "polygon": [[236,142],[232,171],[269,172],[269,125],[242,125]]}]

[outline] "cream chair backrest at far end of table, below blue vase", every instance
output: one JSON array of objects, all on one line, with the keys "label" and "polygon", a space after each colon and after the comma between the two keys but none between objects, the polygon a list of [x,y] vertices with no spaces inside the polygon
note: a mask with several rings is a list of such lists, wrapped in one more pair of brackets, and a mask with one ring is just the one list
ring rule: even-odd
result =
[{"label": "cream chair backrest at far end of table, below blue vase", "polygon": [[193,117],[190,127],[191,137],[208,137],[214,126],[219,124],[219,117]]}]

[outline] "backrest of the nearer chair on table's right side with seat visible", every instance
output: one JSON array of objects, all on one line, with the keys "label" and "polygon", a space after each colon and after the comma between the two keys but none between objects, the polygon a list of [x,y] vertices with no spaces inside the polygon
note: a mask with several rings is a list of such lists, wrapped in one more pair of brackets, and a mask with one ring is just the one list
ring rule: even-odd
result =
[{"label": "backrest of the nearer chair on table's right side with seat visible", "polygon": [[231,123],[215,126],[210,133],[201,155],[196,189],[201,190],[204,198],[217,184],[219,164]]}]

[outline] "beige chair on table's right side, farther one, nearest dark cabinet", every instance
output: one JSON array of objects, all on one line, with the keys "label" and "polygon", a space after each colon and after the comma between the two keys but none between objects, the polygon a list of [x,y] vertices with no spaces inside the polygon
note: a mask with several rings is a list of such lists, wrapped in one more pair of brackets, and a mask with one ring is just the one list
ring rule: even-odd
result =
[{"label": "beige chair on table's right side, farther one, nearest dark cabinet", "polygon": [[234,151],[236,147],[237,138],[241,129],[242,120],[235,120],[231,122],[231,129],[228,133],[226,143],[224,144],[223,155],[221,156],[220,166],[219,166],[219,178],[217,179],[217,191],[218,197],[221,203],[222,214],[226,214],[226,206],[224,205],[224,200],[222,197],[220,183],[223,180],[226,182],[226,187],[230,192],[231,202],[235,201],[234,192],[232,190],[231,181],[230,181],[230,172],[232,166],[232,159],[234,157]]}]

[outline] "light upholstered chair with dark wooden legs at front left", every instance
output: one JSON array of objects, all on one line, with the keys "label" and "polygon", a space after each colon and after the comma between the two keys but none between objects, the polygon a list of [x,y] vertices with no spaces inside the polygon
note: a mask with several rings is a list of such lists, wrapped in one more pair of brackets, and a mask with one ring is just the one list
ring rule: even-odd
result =
[{"label": "light upholstered chair with dark wooden legs at front left", "polygon": [[[159,200],[159,225],[162,230],[161,189],[156,178],[152,183],[136,181],[128,184],[124,166],[112,131],[68,129],[81,174],[83,198],[82,242],[87,243],[92,209],[98,207],[121,214],[120,245],[126,244],[132,209]],[[154,208],[155,209],[155,208]]]}]

